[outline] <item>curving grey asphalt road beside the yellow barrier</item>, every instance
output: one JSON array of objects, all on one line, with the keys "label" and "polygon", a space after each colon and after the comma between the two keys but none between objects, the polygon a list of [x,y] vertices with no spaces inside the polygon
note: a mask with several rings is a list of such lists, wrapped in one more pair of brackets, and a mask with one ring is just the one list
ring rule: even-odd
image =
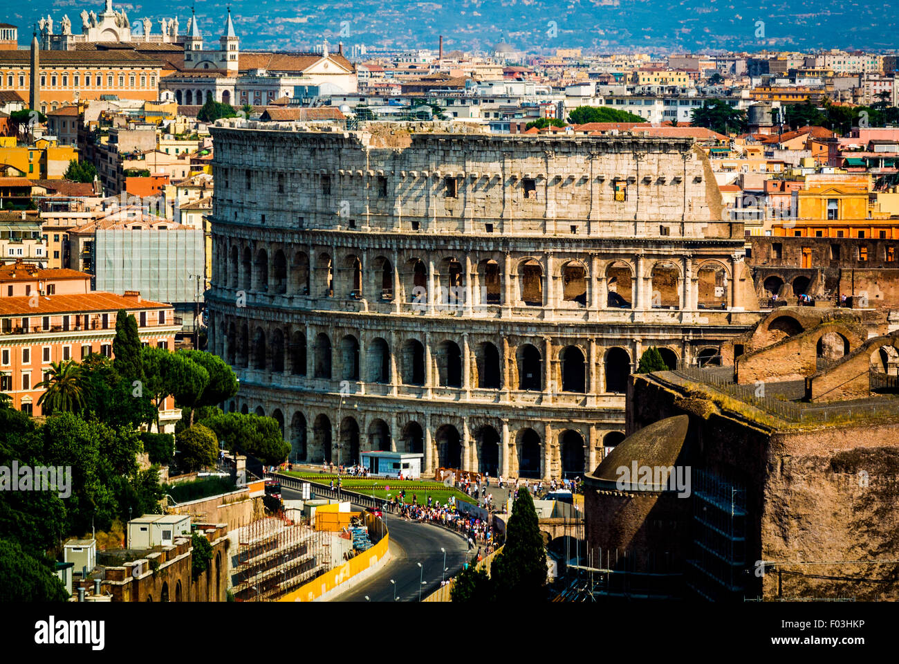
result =
[{"label": "curving grey asphalt road beside the yellow barrier", "polygon": [[[365,596],[368,595],[371,602],[392,602],[394,586],[390,583],[390,579],[394,579],[397,601],[417,602],[419,579],[424,579],[422,597],[427,597],[441,586],[443,567],[441,547],[447,550],[448,578],[458,574],[462,564],[467,561],[468,546],[461,535],[437,525],[404,521],[393,515],[385,517],[390,533],[391,560],[372,579],[348,590],[334,601],[364,602]],[[471,553],[475,552],[476,550]],[[419,569],[417,564],[419,562],[422,563],[423,569]]]}]

